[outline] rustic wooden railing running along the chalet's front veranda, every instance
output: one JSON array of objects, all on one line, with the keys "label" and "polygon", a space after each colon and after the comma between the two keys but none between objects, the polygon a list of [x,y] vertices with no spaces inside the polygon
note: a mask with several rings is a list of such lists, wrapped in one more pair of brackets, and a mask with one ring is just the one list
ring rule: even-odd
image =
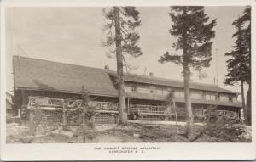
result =
[{"label": "rustic wooden railing running along the chalet's front veranda", "polygon": [[[35,108],[36,106],[41,109],[51,108],[51,109],[63,109],[64,103],[66,103],[67,109],[79,109],[82,107],[82,100],[72,100],[72,99],[61,99],[61,98],[45,98],[45,97],[29,97],[28,109]],[[119,103],[114,102],[98,102],[91,101],[91,106],[96,107],[96,111],[99,112],[115,112],[119,111]],[[203,109],[192,109],[195,116],[203,116]],[[166,109],[165,106],[153,106],[144,104],[130,104],[129,112],[137,112],[140,115],[174,115],[173,109]],[[185,109],[178,108],[177,115],[183,115]],[[218,115],[227,116],[229,118],[237,118],[238,113],[227,111],[227,110],[217,110]]]}]

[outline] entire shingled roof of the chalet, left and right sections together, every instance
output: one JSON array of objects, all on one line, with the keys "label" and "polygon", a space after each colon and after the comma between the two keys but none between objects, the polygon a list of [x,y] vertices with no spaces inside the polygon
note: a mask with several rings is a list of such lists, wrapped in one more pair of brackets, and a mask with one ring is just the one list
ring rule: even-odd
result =
[{"label": "entire shingled roof of the chalet, left and right sections together", "polygon": [[[15,88],[80,93],[84,86],[91,94],[117,96],[117,90],[111,79],[116,77],[114,71],[18,56],[14,56],[13,61]],[[124,80],[166,87],[183,87],[183,81],[154,76],[125,74]],[[191,82],[190,87],[212,92],[237,93],[195,82]]]}]

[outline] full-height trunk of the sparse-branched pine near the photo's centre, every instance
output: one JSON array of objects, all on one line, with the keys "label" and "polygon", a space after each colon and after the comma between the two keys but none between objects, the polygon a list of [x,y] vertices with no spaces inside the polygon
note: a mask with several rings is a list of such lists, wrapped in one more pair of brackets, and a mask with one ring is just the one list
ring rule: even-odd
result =
[{"label": "full-height trunk of the sparse-branched pine near the photo's centre", "polygon": [[127,112],[125,108],[125,85],[123,74],[123,56],[122,56],[122,36],[119,24],[119,8],[114,7],[114,25],[115,25],[115,45],[117,62],[117,80],[119,93],[119,124],[124,125],[127,122]]}]

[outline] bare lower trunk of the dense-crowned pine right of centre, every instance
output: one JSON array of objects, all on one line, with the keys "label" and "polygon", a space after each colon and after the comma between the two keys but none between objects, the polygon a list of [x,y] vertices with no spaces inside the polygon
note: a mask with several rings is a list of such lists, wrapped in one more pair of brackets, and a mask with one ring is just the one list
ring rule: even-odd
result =
[{"label": "bare lower trunk of the dense-crowned pine right of centre", "polygon": [[185,134],[187,137],[190,137],[191,131],[192,131],[192,123],[193,123],[193,113],[192,113],[192,106],[191,106],[191,97],[190,97],[190,90],[189,90],[189,78],[190,78],[190,72],[189,72],[189,64],[186,59],[186,51],[184,50],[184,61],[183,61],[183,77],[184,77],[184,95],[185,95],[185,108],[187,111],[187,124],[186,124],[186,130]]}]

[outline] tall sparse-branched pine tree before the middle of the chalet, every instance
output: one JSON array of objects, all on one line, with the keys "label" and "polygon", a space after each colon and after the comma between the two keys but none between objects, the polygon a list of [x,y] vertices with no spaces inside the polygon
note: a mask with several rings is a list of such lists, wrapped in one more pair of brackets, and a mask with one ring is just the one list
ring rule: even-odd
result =
[{"label": "tall sparse-branched pine tree before the middle of the chalet", "polygon": [[138,57],[142,55],[141,48],[137,46],[140,38],[136,29],[141,25],[139,12],[135,7],[111,7],[103,9],[103,14],[107,19],[105,30],[108,30],[105,46],[110,47],[111,53],[115,53],[117,60],[117,85],[119,93],[119,124],[125,124],[127,121],[127,112],[125,109],[125,85],[124,71],[129,65],[125,61],[125,55]]}]

